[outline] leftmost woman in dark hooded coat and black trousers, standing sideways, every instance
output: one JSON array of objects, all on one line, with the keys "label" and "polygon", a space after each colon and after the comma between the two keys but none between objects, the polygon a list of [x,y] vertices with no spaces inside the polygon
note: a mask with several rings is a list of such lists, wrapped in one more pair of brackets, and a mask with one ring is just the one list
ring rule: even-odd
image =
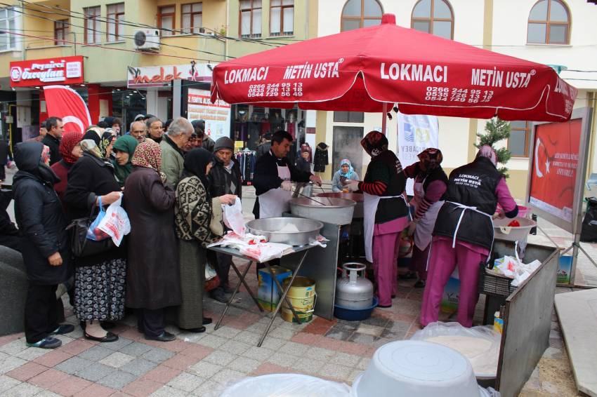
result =
[{"label": "leftmost woman in dark hooded coat and black trousers, standing sideways", "polygon": [[[21,253],[29,287],[25,302],[27,346],[54,349],[62,342],[53,335],[72,332],[70,324],[59,325],[58,284],[71,274],[66,218],[53,184],[58,177],[47,166],[49,148],[41,142],[23,142],[15,150],[18,173],[13,183],[15,218],[22,234]],[[45,157],[45,159],[44,159]]]}]

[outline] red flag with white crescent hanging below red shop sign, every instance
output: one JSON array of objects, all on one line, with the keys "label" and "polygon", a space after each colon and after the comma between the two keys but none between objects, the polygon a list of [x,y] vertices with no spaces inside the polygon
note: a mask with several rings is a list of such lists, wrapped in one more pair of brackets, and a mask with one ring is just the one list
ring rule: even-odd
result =
[{"label": "red flag with white crescent hanging below red shop sign", "polygon": [[89,110],[77,91],[65,86],[46,86],[44,95],[48,116],[63,119],[65,133],[77,131],[82,134],[91,126]]}]

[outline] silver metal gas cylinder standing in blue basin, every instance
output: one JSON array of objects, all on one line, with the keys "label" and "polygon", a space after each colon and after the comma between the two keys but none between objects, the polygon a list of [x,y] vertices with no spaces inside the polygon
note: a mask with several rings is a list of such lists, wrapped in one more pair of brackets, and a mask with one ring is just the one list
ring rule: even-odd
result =
[{"label": "silver metal gas cylinder standing in blue basin", "polygon": [[[373,283],[365,274],[367,266],[359,262],[348,262],[342,265],[342,278],[336,281],[336,305],[346,309],[367,309],[373,302]],[[348,274],[347,274],[348,272]]]}]

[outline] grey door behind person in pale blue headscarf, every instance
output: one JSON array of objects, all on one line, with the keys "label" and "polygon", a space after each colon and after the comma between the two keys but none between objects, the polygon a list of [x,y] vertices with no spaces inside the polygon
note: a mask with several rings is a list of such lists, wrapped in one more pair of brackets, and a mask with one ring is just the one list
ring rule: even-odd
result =
[{"label": "grey door behind person in pale blue headscarf", "polygon": [[362,179],[362,154],[361,140],[362,127],[334,127],[334,144],[332,145],[332,175],[340,168],[340,161],[350,160],[353,168]]}]

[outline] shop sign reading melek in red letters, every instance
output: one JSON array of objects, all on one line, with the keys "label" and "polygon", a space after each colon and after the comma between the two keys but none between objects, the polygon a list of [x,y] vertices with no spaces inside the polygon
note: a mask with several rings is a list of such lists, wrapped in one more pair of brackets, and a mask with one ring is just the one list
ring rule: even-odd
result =
[{"label": "shop sign reading melek in red letters", "polygon": [[190,80],[211,83],[211,70],[215,65],[190,62],[186,65],[164,65],[126,68],[128,88],[168,87],[173,80]]}]

